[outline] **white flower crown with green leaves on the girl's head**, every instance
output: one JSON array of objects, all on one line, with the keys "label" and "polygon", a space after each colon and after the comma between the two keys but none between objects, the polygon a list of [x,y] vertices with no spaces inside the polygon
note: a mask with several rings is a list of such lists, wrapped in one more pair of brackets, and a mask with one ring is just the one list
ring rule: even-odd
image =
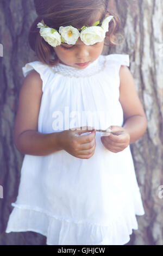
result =
[{"label": "white flower crown with green leaves on the girl's head", "polygon": [[[102,25],[97,26],[99,21],[96,21],[91,27],[82,28],[74,28],[72,26],[60,27],[59,33],[54,28],[49,28],[45,25],[43,20],[37,23],[37,28],[40,28],[40,35],[43,39],[48,42],[49,45],[56,47],[61,44],[61,42],[65,42],[68,45],[76,44],[78,38],[84,42],[86,45],[93,45],[96,42],[102,42],[105,38],[106,32],[109,31],[109,22],[114,16],[107,16],[102,21]],[[79,30],[82,32],[79,32]]]}]

